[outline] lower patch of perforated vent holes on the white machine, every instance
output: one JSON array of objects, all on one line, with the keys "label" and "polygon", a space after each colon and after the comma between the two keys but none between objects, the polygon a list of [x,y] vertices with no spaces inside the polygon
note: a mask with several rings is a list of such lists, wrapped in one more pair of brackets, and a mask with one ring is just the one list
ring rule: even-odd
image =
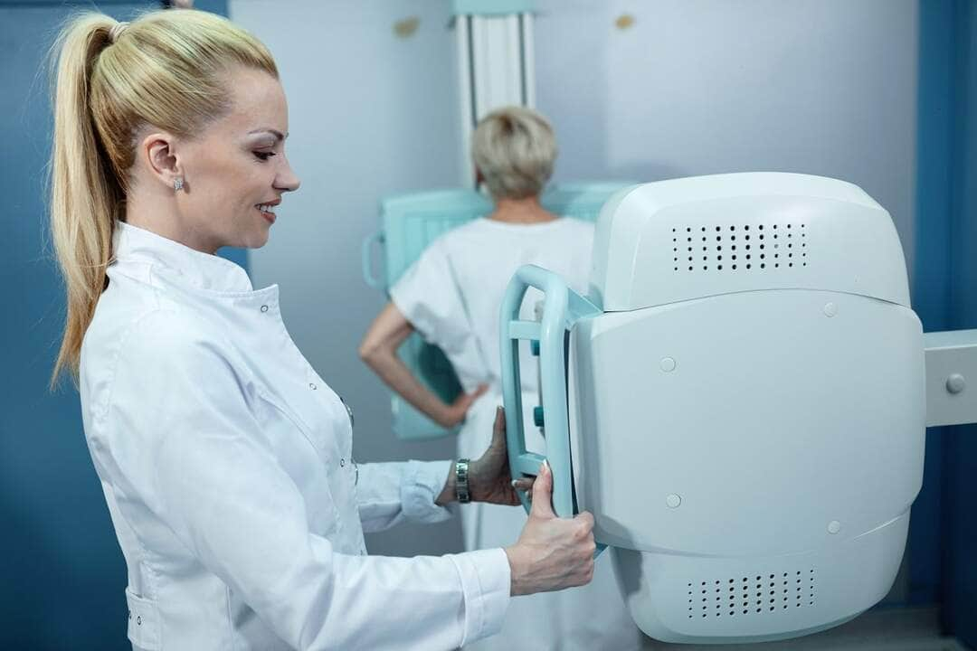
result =
[{"label": "lower patch of perforated vent holes on the white machine", "polygon": [[814,569],[690,581],[689,619],[760,617],[815,604]]}]

